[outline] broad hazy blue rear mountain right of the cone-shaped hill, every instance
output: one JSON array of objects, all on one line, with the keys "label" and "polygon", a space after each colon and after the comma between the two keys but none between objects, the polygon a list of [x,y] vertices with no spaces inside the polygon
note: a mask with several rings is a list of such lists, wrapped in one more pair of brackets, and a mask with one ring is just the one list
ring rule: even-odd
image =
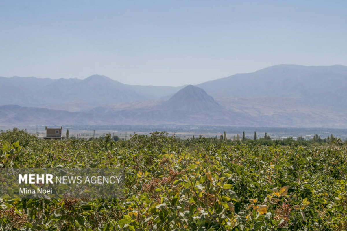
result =
[{"label": "broad hazy blue rear mountain right of the cone-shaped hill", "polygon": [[277,65],[202,84],[213,97],[295,97],[347,107],[347,67]]}]

